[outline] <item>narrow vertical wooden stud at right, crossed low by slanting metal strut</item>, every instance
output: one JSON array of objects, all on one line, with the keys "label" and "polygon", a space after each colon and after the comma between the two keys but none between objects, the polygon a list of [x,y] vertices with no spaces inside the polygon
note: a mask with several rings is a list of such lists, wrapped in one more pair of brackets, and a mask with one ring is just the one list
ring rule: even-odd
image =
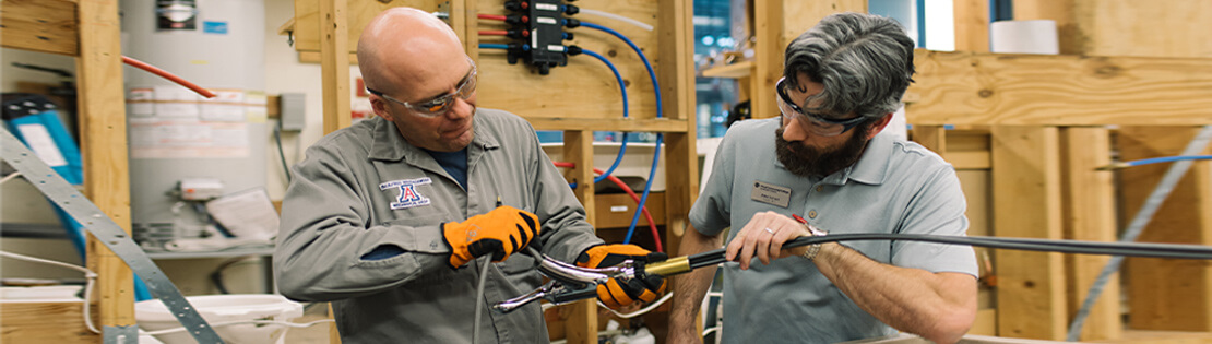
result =
[{"label": "narrow vertical wooden stud at right, crossed low by slanting metal strut", "polygon": [[[1062,205],[1064,239],[1114,242],[1116,240],[1115,184],[1111,172],[1096,171],[1111,162],[1111,136],[1104,127],[1062,127]],[[1068,317],[1086,300],[1090,286],[1110,260],[1108,256],[1067,254]],[[1109,340],[1124,336],[1117,276],[1103,288],[1086,317],[1079,340]]]}]

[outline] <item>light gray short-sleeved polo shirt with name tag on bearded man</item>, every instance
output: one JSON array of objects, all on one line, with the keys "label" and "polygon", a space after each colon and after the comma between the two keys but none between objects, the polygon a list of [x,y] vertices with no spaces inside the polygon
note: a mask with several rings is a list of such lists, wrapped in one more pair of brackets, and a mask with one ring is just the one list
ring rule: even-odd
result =
[{"label": "light gray short-sleeved polo shirt with name tag on bearded man", "polygon": [[[800,214],[830,234],[965,235],[968,222],[959,179],[937,154],[877,134],[851,167],[824,178],[799,177],[776,157],[778,126],[774,117],[741,121],[728,130],[707,189],[691,208],[696,230],[715,236],[728,227],[739,230],[758,212],[773,211]],[[727,240],[734,235],[730,231]],[[977,275],[967,246],[841,243],[885,264]],[[836,343],[896,333],[859,309],[813,263],[795,257],[770,265],[755,260],[749,270],[724,264],[724,343]]]}]

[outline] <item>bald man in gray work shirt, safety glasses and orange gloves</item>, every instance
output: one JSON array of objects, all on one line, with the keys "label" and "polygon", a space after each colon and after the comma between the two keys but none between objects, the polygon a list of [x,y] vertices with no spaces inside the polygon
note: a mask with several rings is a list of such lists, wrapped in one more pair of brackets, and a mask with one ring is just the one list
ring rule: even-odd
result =
[{"label": "bald man in gray work shirt, safety glasses and orange gloves", "polygon": [[[475,63],[445,23],[384,11],[358,61],[377,116],[321,138],[292,168],[274,252],[281,293],[332,302],[345,344],[470,343],[473,331],[481,343],[547,343],[538,303],[488,310],[543,282],[533,258],[511,253],[598,262],[585,259],[617,245],[594,236],[530,124],[475,107]],[[499,263],[473,329],[484,256]]]}]

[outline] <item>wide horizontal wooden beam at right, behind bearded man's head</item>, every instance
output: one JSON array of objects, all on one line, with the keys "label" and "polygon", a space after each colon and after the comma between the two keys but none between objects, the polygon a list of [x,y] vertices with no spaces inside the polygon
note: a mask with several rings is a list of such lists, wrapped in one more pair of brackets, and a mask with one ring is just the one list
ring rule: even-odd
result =
[{"label": "wide horizontal wooden beam at right, behind bearded man's head", "polygon": [[914,125],[1207,125],[1212,59],[915,53]]}]

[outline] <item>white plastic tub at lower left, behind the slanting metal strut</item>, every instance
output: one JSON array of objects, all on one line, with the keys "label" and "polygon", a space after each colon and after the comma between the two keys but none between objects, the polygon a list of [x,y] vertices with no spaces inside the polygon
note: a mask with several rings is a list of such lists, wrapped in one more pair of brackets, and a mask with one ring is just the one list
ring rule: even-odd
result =
[{"label": "white plastic tub at lower left, behind the slanting metal strut", "polygon": [[[207,323],[215,327],[223,342],[229,344],[281,344],[286,339],[286,329],[282,325],[217,325],[231,321],[268,320],[287,322],[303,316],[303,304],[286,299],[275,294],[230,294],[230,296],[199,296],[185,299],[202,315]],[[135,320],[139,328],[147,332],[160,329],[179,328],[177,317],[168,313],[168,308],[159,299],[135,303]],[[171,332],[155,336],[165,344],[195,343],[194,338],[185,331]]]}]

